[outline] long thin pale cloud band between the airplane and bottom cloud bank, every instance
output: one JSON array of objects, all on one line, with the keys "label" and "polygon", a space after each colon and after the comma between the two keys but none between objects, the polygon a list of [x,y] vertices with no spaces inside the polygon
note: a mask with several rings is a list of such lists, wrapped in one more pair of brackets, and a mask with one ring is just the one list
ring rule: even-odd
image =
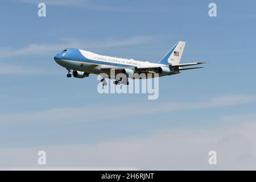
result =
[{"label": "long thin pale cloud band between the airplane and bottom cloud bank", "polygon": [[[117,105],[90,105],[85,107],[65,107],[37,111],[33,113],[11,113],[1,114],[0,123],[70,123],[70,122],[92,122],[101,119],[114,119],[127,114],[130,117],[146,114],[170,113],[181,110],[208,109],[213,107],[224,107],[244,105],[256,102],[255,96],[231,95],[225,97],[214,97],[207,101],[200,102],[168,102],[165,104],[141,105],[132,104],[125,106]],[[101,114],[98,114],[98,112]],[[115,114],[110,114],[115,111]],[[65,113],[65,114],[63,114]],[[85,117],[86,116],[86,117]],[[83,119],[81,119],[83,118]]]}]

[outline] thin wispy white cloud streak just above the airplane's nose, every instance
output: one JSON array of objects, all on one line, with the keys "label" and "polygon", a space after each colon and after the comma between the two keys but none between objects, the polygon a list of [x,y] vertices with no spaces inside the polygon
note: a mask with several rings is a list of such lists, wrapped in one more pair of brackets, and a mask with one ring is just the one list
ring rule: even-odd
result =
[{"label": "thin wispy white cloud streak just above the airplane's nose", "polygon": [[[27,56],[27,55],[45,55],[47,53],[57,53],[64,48],[108,48],[108,47],[124,47],[133,46],[136,44],[147,43],[154,39],[151,36],[135,36],[125,39],[106,39],[101,41],[82,41],[72,38],[62,39],[59,44],[38,44],[32,43],[28,46],[18,49],[14,48],[0,48],[0,57],[15,57],[15,56]],[[85,43],[86,42],[86,43]]]}]

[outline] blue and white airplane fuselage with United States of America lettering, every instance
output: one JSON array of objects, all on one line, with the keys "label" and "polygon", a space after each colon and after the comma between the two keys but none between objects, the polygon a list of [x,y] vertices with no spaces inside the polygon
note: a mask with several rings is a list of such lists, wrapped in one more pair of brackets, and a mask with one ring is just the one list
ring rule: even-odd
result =
[{"label": "blue and white airplane fuselage with United States of America lettering", "polygon": [[[118,68],[127,67],[134,69],[134,67],[164,67],[164,64],[150,63],[148,61],[137,61],[134,59],[123,59],[111,56],[98,55],[97,53],[84,51],[81,49],[68,48],[58,53],[54,60],[57,64],[64,68],[75,71],[100,74],[106,73],[110,76],[110,72],[102,68]],[[136,73],[136,71],[134,71]],[[160,76],[160,75],[159,75]]]}]

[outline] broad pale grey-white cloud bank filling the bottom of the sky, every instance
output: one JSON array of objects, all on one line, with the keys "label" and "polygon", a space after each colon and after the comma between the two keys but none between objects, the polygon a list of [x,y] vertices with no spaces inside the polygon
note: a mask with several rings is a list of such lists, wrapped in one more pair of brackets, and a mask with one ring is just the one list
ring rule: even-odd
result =
[{"label": "broad pale grey-white cloud bank filling the bottom of the sky", "polygon": [[[37,148],[1,148],[2,169],[256,169],[256,118],[218,129],[173,128],[144,138],[117,139],[99,144]],[[38,151],[47,166],[37,164]],[[217,152],[217,166],[208,152]]]}]

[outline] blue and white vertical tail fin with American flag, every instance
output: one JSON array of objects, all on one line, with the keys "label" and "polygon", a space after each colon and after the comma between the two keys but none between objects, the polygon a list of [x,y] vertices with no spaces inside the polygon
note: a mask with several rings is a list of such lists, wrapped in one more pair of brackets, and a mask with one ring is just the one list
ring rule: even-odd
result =
[{"label": "blue and white vertical tail fin with American flag", "polygon": [[159,63],[166,65],[179,64],[185,45],[185,42],[177,42],[175,46],[162,58],[162,60],[159,61]]}]

